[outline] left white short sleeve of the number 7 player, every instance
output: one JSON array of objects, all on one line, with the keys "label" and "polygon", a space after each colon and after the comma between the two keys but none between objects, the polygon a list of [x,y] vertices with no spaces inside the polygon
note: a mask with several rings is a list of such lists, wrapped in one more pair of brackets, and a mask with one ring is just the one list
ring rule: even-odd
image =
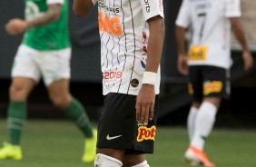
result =
[{"label": "left white short sleeve of the number 7 player", "polygon": [[188,27],[191,23],[189,11],[189,2],[187,0],[183,0],[175,24],[184,28]]}]

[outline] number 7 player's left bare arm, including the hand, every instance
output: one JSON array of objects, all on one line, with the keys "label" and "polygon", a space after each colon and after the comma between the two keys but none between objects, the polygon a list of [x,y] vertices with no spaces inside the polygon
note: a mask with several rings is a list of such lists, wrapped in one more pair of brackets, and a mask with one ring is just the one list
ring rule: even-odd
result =
[{"label": "number 7 player's left bare arm, including the hand", "polygon": [[188,74],[188,56],[185,49],[185,33],[186,29],[182,26],[176,25],[176,43],[178,47],[178,70],[181,74]]}]

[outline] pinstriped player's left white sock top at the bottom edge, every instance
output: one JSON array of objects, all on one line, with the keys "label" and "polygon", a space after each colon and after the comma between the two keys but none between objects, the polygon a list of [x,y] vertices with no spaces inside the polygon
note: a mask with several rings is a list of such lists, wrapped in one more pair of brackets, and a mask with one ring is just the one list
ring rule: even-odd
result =
[{"label": "pinstriped player's left white sock top at the bottom edge", "polygon": [[121,167],[123,163],[103,153],[97,153],[94,159],[94,167]]}]

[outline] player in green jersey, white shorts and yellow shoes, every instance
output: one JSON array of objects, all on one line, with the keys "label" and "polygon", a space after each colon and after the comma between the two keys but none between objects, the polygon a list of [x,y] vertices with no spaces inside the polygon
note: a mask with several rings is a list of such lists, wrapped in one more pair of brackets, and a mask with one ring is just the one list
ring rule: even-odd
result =
[{"label": "player in green jersey, white shorts and yellow shoes", "polygon": [[82,160],[94,162],[96,130],[82,103],[69,92],[71,44],[68,33],[67,0],[24,0],[25,20],[11,19],[8,34],[24,34],[15,55],[8,106],[9,142],[0,159],[21,160],[21,133],[27,118],[26,100],[41,77],[51,101],[84,133]]}]

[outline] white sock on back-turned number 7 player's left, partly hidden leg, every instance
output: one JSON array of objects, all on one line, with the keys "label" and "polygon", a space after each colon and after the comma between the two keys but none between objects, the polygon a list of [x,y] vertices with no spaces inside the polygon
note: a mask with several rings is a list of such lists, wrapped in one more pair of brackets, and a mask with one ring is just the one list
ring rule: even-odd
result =
[{"label": "white sock on back-turned number 7 player's left, partly hidden leg", "polygon": [[198,113],[198,108],[192,106],[187,119],[187,129],[188,129],[190,141],[192,141],[192,136],[194,133],[194,124],[195,124],[197,113]]}]

